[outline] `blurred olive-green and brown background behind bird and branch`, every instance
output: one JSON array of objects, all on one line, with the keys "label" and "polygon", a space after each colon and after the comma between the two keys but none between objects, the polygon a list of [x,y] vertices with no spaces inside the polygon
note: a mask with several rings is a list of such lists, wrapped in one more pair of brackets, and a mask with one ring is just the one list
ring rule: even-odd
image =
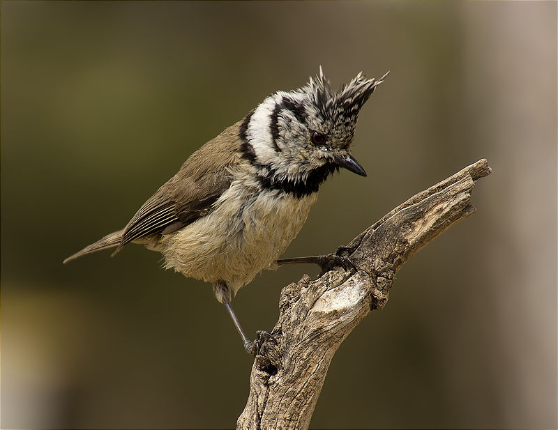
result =
[{"label": "blurred olive-green and brown background behind bird and branch", "polygon": [[[557,428],[557,3],[1,2],[1,427],[231,428],[252,360],[211,286],[121,228],[205,141],[322,65],[391,70],[285,256],[332,252],[481,158],[478,213],[402,268],[312,428]],[[271,329],[265,272],[234,301]]]}]

